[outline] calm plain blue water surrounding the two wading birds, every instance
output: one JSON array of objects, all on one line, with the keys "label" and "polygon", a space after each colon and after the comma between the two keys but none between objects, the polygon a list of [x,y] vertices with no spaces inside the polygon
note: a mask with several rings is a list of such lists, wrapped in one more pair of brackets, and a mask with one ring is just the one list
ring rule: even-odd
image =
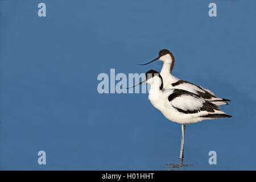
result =
[{"label": "calm plain blue water surrounding the two wading birds", "polygon": [[[255,170],[256,1],[0,0],[0,169]],[[99,73],[160,71],[217,96],[232,118],[180,125],[147,94],[100,94]],[[47,164],[38,165],[38,151]],[[210,165],[209,151],[217,164]],[[248,160],[250,159],[250,160]]]}]

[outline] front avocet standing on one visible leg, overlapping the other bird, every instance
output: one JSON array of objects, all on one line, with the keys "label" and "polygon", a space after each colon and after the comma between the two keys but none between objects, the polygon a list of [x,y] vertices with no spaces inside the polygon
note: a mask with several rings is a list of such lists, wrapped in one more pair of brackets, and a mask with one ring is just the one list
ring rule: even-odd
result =
[{"label": "front avocet standing on one visible leg, overlapping the other bird", "polygon": [[205,119],[232,117],[198,94],[182,89],[163,90],[163,78],[155,70],[148,71],[146,80],[139,84],[143,82],[150,84],[148,99],[151,104],[160,110],[167,119],[181,124],[180,159],[183,158],[185,124],[196,123]]}]

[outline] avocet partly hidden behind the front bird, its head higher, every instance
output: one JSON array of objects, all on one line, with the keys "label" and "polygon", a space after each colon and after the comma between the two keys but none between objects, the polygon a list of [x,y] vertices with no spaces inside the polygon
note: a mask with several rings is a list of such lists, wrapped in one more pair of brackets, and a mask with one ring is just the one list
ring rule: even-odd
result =
[{"label": "avocet partly hidden behind the front bird, its head higher", "polygon": [[225,98],[214,96],[214,93],[208,89],[204,89],[201,86],[197,86],[188,81],[180,80],[179,78],[176,78],[175,76],[173,76],[172,69],[174,68],[175,59],[174,59],[174,55],[172,55],[172,53],[167,49],[162,49],[161,51],[159,51],[158,57],[156,57],[156,59],[150,61],[149,63],[139,64],[139,65],[147,65],[156,60],[163,61],[163,67],[160,72],[160,75],[163,77],[164,89],[187,90],[188,92],[192,92],[199,95],[200,97],[203,97],[205,100],[214,102],[214,104],[216,105],[227,105],[228,102],[226,101],[230,101]]}]

